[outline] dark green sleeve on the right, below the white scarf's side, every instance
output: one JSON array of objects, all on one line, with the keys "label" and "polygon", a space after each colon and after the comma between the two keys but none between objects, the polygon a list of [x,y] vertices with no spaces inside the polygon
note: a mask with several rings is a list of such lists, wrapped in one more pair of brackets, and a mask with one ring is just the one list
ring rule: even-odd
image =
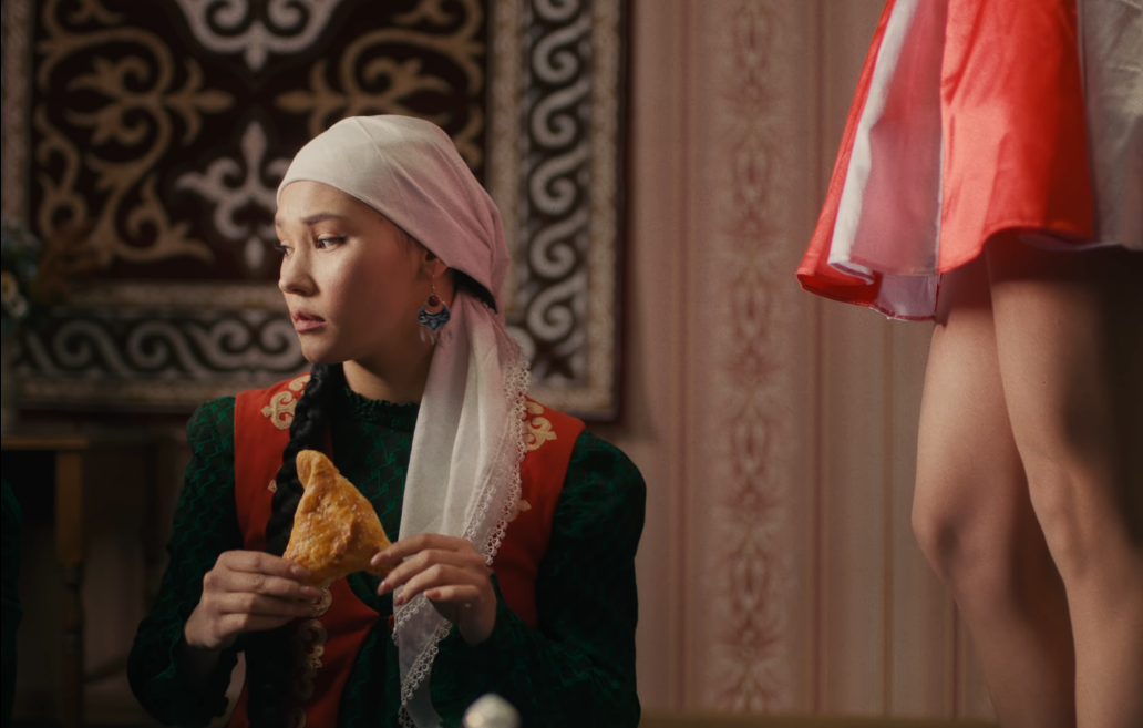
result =
[{"label": "dark green sleeve on the right, below the white scarf's side", "polygon": [[634,555],[647,489],[616,447],[584,432],[576,442],[536,583],[533,627],[497,594],[496,629],[470,647],[454,627],[432,667],[432,701],[446,726],[485,693],[525,726],[639,725]]}]

